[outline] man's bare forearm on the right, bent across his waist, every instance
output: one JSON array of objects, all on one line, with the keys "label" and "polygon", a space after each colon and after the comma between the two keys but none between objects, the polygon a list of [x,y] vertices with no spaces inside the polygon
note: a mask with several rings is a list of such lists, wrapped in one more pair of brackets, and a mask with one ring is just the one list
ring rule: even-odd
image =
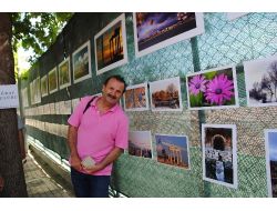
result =
[{"label": "man's bare forearm on the right, bent across his waist", "polygon": [[100,171],[104,169],[110,163],[114,162],[123,152],[123,149],[115,147],[106,157],[104,160],[102,160],[100,163],[96,163],[92,168],[84,168],[89,173],[94,173],[96,171]]}]

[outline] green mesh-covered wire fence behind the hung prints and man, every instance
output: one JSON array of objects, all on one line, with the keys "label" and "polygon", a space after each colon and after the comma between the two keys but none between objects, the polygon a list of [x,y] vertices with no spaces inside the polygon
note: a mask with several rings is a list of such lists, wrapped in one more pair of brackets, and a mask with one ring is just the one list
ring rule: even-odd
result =
[{"label": "green mesh-covered wire fence behind the hung prints and man", "polygon": [[[78,14],[69,29],[81,19]],[[88,14],[86,14],[88,16]],[[98,20],[88,37],[112,21],[116,13],[96,14]],[[95,18],[95,17],[94,17]],[[89,19],[89,18],[88,18]],[[205,32],[196,38],[181,41],[142,58],[135,58],[133,17],[126,13],[129,63],[70,88],[71,97],[94,94],[101,91],[103,79],[110,74],[123,74],[129,84],[181,77],[182,112],[127,112],[130,129],[151,130],[154,159],[131,157],[126,153],[114,164],[112,188],[127,197],[267,197],[264,129],[277,128],[276,107],[246,107],[243,61],[266,58],[277,50],[277,13],[248,13],[228,20],[226,13],[204,13]],[[69,33],[71,31],[69,30]],[[80,32],[81,33],[81,32]],[[74,33],[76,34],[76,33]],[[91,37],[90,37],[91,36]],[[73,38],[72,38],[73,39]],[[75,38],[78,42],[79,38]],[[82,40],[83,39],[83,40]],[[85,41],[82,38],[82,42]],[[71,40],[71,42],[73,42]],[[81,43],[79,43],[81,44]],[[78,46],[78,44],[75,44]],[[92,44],[93,49],[93,44]],[[72,49],[73,50],[73,49]],[[93,50],[92,50],[93,51]],[[224,110],[187,110],[185,76],[199,70],[235,64],[239,108]],[[92,72],[94,53],[92,53]],[[43,76],[43,74],[42,74]],[[41,76],[41,77],[42,77]],[[27,83],[28,84],[28,83]],[[24,86],[23,86],[24,87]],[[57,93],[43,103],[63,99]],[[28,117],[41,121],[66,123],[66,115]],[[202,175],[201,124],[236,124],[237,127],[237,174],[238,188],[211,183]],[[28,133],[66,158],[65,139],[28,127]],[[155,133],[184,134],[189,140],[191,169],[183,170],[156,162]]]}]

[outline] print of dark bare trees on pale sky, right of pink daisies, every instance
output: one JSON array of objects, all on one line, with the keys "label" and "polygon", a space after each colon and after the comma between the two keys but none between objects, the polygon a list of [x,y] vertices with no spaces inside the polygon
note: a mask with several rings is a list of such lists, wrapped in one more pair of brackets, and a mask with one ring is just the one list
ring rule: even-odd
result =
[{"label": "print of dark bare trees on pale sky, right of pink daisies", "polygon": [[277,105],[277,56],[244,62],[247,105]]}]

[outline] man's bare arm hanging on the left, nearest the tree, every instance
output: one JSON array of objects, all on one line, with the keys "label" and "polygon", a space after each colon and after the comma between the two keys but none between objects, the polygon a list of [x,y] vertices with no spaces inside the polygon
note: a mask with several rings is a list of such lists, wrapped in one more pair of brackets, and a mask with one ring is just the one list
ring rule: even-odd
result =
[{"label": "man's bare arm hanging on the left, nearest the tree", "polygon": [[76,151],[76,137],[78,137],[78,128],[73,125],[69,125],[69,132],[68,132],[68,143],[70,148],[70,158],[71,158],[71,167],[81,170],[81,159]]}]

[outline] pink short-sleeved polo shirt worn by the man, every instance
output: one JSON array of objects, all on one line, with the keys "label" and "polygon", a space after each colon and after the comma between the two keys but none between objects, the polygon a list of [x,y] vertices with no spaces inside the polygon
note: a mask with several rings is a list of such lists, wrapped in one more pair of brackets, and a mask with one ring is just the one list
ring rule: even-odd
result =
[{"label": "pink short-sleeved polo shirt worn by the man", "polygon": [[[96,101],[83,113],[85,105],[92,97],[84,97],[69,118],[69,124],[78,128],[76,149],[79,157],[92,157],[101,162],[113,149],[127,148],[129,120],[120,105],[114,105],[107,112],[100,114]],[[112,163],[93,175],[111,175]]]}]

